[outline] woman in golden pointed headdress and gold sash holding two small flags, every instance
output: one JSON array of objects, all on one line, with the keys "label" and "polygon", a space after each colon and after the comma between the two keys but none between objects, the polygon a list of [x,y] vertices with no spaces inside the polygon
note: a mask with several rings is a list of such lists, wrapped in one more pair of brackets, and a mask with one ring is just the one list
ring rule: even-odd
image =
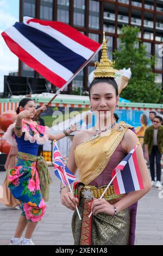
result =
[{"label": "woman in golden pointed headdress and gold sash holding two small flags", "polygon": [[[61,185],[61,203],[71,210],[78,205],[82,216],[80,221],[77,211],[74,211],[74,245],[134,245],[137,201],[151,189],[151,181],[139,145],[136,155],[144,190],[116,195],[111,185],[104,198],[99,200],[111,180],[112,170],[139,141],[134,127],[118,125],[114,121],[119,96],[105,38],[102,59],[96,65],[89,93],[97,122],[93,129],[80,131],[74,136],[67,167],[73,174],[78,168],[80,183],[75,185],[77,198],[72,196],[68,187]],[[93,216],[89,218],[91,211]]]}]

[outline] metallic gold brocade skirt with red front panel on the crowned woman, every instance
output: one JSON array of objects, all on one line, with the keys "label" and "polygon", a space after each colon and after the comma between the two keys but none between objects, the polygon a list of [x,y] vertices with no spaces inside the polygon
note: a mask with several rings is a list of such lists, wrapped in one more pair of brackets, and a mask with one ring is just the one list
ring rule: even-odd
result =
[{"label": "metallic gold brocade skirt with red front panel on the crowned woman", "polygon": [[[72,232],[74,245],[129,245],[130,211],[122,210],[117,216],[98,214],[89,218],[91,200],[86,200],[82,194],[82,186],[78,188],[78,206],[82,221],[75,211],[72,217]],[[125,195],[111,194],[107,197],[110,204],[115,204]],[[105,197],[106,199],[106,197]]]}]

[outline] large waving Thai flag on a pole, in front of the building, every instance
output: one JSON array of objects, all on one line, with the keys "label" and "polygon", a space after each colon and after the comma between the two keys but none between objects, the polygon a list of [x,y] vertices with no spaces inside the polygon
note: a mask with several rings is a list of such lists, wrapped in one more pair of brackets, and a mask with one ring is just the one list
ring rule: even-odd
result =
[{"label": "large waving Thai flag on a pole, in front of the building", "polygon": [[24,17],[2,33],[10,50],[54,86],[68,84],[101,45],[58,21]]}]

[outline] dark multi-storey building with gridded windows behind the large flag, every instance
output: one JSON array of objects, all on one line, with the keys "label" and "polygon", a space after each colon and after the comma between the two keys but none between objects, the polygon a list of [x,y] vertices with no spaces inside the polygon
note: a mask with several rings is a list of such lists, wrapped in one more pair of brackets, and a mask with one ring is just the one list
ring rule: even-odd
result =
[{"label": "dark multi-storey building with gridded windows behind the large flag", "polygon": [[[102,42],[104,30],[106,39],[109,39],[111,59],[112,51],[120,45],[122,25],[137,26],[140,28],[139,38],[147,46],[148,56],[154,54],[156,57],[155,82],[163,83],[162,57],[159,56],[163,42],[163,0],[20,0],[20,21],[23,16],[65,22],[98,42]],[[72,84],[87,90],[87,77],[94,69],[95,60],[98,56],[76,76]],[[18,73],[21,76],[40,76],[21,62]]]}]

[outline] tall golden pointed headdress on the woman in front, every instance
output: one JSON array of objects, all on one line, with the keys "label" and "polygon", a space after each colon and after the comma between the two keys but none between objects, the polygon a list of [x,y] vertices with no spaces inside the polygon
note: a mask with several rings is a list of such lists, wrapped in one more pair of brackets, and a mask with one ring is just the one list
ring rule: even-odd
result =
[{"label": "tall golden pointed headdress on the woman in front", "polygon": [[115,78],[115,70],[113,68],[114,62],[108,58],[108,47],[105,41],[105,32],[103,32],[103,44],[102,44],[102,57],[100,62],[95,62],[96,70],[94,71],[93,78],[99,77],[113,77]]}]

